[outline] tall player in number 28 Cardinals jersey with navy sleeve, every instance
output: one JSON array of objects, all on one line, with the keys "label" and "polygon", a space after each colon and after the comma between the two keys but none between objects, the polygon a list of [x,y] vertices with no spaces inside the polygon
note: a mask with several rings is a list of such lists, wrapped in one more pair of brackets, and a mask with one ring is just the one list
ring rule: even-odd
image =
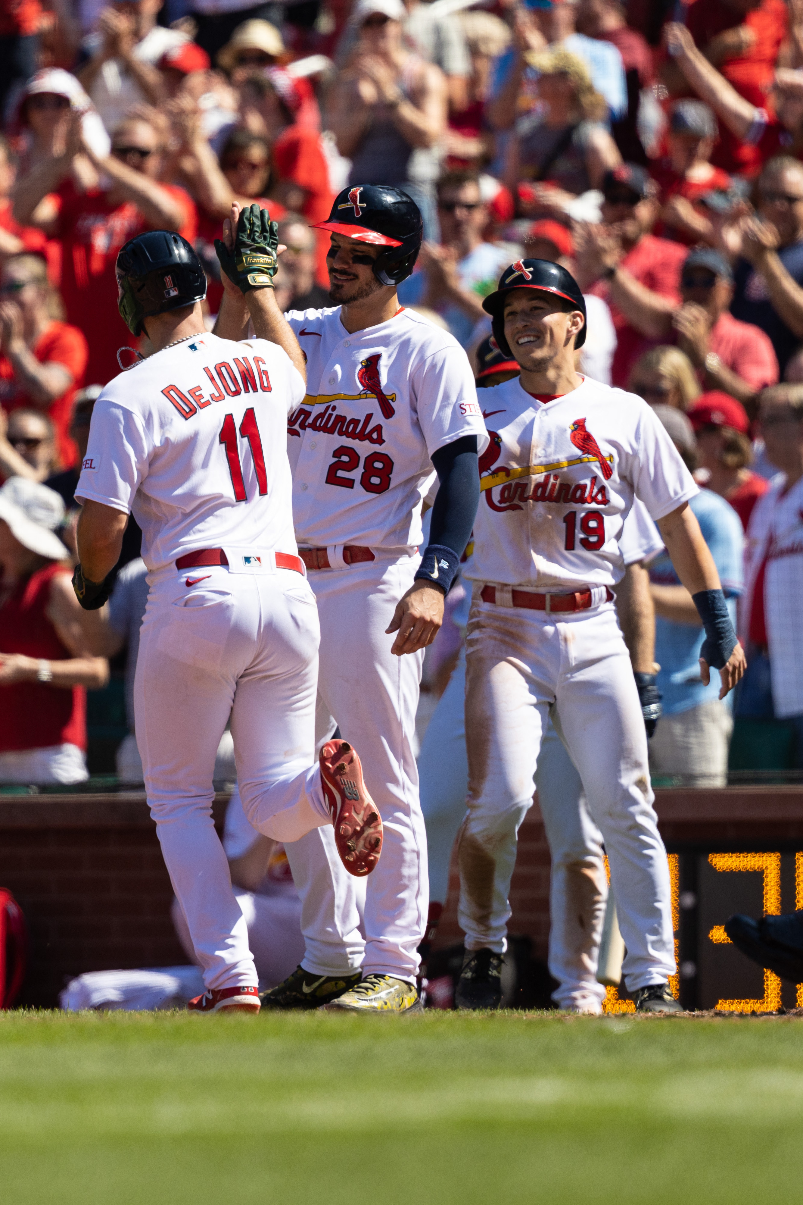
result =
[{"label": "tall player in number 28 Cardinals jersey with navy sleeve", "polygon": [[[398,305],[421,243],[414,202],[396,188],[349,188],[319,229],[331,234],[335,305],[288,316],[307,359],[307,395],[288,424],[293,515],[320,616],[321,711],[346,740],[360,733],[384,846],[365,883],[364,953],[355,889],[325,842],[285,844],[307,951],[264,1004],[406,1012],[419,1007],[427,911],[412,743],[423,651],[471,535],[488,437],[460,345]],[[421,554],[421,499],[436,474]],[[333,933],[339,950],[324,946]]]}]

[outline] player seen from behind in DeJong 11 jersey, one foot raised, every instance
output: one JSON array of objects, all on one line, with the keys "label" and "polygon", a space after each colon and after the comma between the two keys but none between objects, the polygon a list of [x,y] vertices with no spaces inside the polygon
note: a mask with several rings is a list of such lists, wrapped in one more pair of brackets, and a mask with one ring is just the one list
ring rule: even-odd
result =
[{"label": "player seen from behind in DeJong 11 jersey, one foot raised", "polygon": [[[190,1009],[259,1011],[246,921],[214,831],[212,774],[231,713],[243,809],[278,841],[335,824],[352,875],[368,874],[382,822],[344,741],[314,765],[315,600],[297,556],[285,452],[303,359],[272,289],[276,224],[252,206],[224,271],[256,337],[205,331],[206,278],[179,235],[138,235],[117,259],[118,306],[154,354],[111,381],[93,413],[76,496],[85,609],[107,596],[129,513],[142,528],[148,605],[134,688],[148,803],[207,991]],[[231,231],[229,231],[231,234]]]}]

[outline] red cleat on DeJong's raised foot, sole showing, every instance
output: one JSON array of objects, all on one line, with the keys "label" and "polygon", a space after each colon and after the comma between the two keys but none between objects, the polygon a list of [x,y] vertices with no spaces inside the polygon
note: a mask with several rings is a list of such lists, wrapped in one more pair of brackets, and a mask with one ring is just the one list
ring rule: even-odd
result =
[{"label": "red cleat on DeJong's raised foot, sole showing", "polygon": [[356,751],[347,741],[326,741],[318,760],[341,862],[350,875],[370,875],[382,853],[382,819]]}]

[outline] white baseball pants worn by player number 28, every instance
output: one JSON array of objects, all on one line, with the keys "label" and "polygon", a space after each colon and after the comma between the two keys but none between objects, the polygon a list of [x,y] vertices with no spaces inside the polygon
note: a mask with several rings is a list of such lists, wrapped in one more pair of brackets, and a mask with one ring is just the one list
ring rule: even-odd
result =
[{"label": "white baseball pants worn by player number 28", "polygon": [[424,654],[395,657],[395,636],[385,635],[418,564],[417,557],[405,557],[309,575],[320,618],[319,736],[337,723],[354,745],[384,825],[382,857],[361,883],[327,850],[326,830],[285,842],[302,900],[307,951],[301,965],[318,975],[353,971],[360,964],[365,975],[413,981],[418,974],[429,904],[426,831],[413,754]]}]

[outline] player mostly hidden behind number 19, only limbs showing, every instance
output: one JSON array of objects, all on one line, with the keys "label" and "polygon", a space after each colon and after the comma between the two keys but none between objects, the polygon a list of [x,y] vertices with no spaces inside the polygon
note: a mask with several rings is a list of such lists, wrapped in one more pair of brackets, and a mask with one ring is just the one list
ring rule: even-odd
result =
[{"label": "player mostly hidden behind number 19, only limbs showing", "polygon": [[[477,349],[477,387],[494,387],[519,376],[515,360],[506,360],[491,339]],[[480,405],[485,396],[478,394]],[[485,407],[494,425],[492,406]],[[491,431],[491,440],[496,433]],[[625,519],[619,541],[625,575],[616,587],[616,609],[631,654],[648,735],[661,706],[653,674],[655,622],[649,578],[643,562],[663,543],[646,509],[638,499]],[[468,546],[472,547],[471,545]],[[465,569],[465,566],[464,566]],[[465,631],[470,594],[453,613]],[[421,810],[429,851],[430,911],[421,944],[426,960],[429,945],[445,904],[451,847],[466,815],[468,760],[465,730],[466,651],[457,663],[427,725],[418,770]],[[554,993],[559,1007],[578,1013],[598,1013],[604,988],[597,982],[597,957],[607,898],[602,834],[591,819],[583,783],[555,725],[547,725],[536,770],[538,805],[551,852],[549,970],[557,980]],[[465,1006],[465,1001],[459,1000]]]}]

